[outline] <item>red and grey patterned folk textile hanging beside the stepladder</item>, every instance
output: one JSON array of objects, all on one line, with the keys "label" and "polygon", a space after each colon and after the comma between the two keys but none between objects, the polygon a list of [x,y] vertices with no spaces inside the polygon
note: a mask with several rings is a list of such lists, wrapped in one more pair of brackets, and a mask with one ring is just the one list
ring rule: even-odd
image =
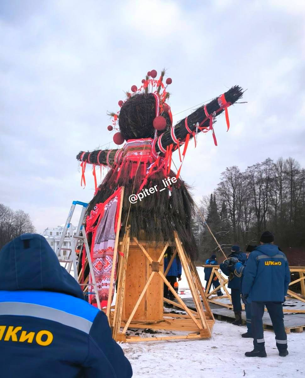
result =
[{"label": "red and grey patterned folk textile hanging beside the stepladder", "polygon": [[[101,308],[106,307],[108,301],[120,196],[121,188],[117,189],[104,203],[97,204],[86,219],[86,234],[92,232],[91,260]],[[116,267],[114,277],[116,278]],[[89,283],[92,283],[91,274],[89,275]],[[114,285],[115,282],[113,283],[112,295]],[[92,293],[93,291],[94,287],[89,286],[89,292]],[[95,299],[94,294],[89,294],[89,303],[92,303]]]}]

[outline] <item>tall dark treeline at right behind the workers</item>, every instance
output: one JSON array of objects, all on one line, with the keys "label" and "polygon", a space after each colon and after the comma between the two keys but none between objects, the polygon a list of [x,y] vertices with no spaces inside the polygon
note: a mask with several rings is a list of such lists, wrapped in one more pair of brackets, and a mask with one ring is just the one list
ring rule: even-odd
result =
[{"label": "tall dark treeline at right behind the workers", "polygon": [[[227,167],[214,193],[203,197],[201,211],[225,253],[232,244],[259,243],[268,229],[283,250],[305,249],[305,169],[293,158],[267,158],[241,172]],[[219,251],[197,214],[193,230],[200,261]],[[302,256],[303,258],[304,256]]]}]

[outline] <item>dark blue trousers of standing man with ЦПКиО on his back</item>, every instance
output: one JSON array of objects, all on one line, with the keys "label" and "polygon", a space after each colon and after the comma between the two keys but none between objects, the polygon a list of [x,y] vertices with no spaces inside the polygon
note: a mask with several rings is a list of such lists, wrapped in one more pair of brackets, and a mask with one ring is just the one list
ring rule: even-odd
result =
[{"label": "dark blue trousers of standing man with \u0426\u041f\u041a\u0438\u041e on his back", "polygon": [[279,351],[287,349],[287,335],[284,327],[284,314],[282,302],[255,302],[252,301],[252,334],[256,350],[265,350],[263,331],[263,314],[265,306],[271,318],[275,333],[276,346]]}]

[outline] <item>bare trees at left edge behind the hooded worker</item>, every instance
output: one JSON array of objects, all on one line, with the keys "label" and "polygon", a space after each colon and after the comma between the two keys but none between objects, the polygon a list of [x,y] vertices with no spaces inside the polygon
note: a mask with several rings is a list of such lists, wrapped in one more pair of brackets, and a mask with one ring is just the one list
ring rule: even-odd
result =
[{"label": "bare trees at left edge behind the hooded worker", "polygon": [[0,203],[0,249],[10,240],[26,232],[35,232],[29,214],[23,210],[14,211]]}]

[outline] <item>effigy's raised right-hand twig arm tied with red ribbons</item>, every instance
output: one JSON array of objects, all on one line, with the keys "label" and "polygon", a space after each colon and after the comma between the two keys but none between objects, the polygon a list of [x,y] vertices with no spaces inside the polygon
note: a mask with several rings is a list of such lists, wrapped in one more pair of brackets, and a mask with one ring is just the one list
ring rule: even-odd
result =
[{"label": "effigy's raised right-hand twig arm tied with red ribbons", "polygon": [[[160,135],[156,139],[153,149],[157,154],[164,154],[166,152],[166,147],[173,144],[173,150],[176,149],[178,143],[182,144],[188,135],[189,138],[192,138],[195,133],[201,131],[206,132],[208,130],[213,131],[214,118],[223,111],[226,113],[226,122],[229,128],[230,124],[227,108],[239,100],[242,95],[243,90],[238,85],[230,88],[227,92],[223,93],[223,95],[220,95],[208,104],[195,110],[195,112],[191,113],[186,118],[183,118],[172,127],[171,130]],[[216,142],[215,138],[214,141]]]}]

